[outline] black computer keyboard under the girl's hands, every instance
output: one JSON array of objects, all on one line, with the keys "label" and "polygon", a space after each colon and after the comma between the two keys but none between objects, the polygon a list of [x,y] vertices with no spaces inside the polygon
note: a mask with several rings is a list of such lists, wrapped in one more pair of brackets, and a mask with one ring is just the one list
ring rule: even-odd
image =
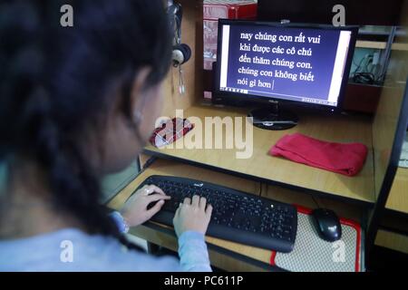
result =
[{"label": "black computer keyboard under the girl's hands", "polygon": [[284,253],[292,251],[295,245],[297,212],[294,206],[179,177],[151,176],[139,189],[150,184],[171,197],[151,218],[152,221],[172,226],[180,202],[199,195],[207,198],[213,207],[207,231],[209,236]]}]

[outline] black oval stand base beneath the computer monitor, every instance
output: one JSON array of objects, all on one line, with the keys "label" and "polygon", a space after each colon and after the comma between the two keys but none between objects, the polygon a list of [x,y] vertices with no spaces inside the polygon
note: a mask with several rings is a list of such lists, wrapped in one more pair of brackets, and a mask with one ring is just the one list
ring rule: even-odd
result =
[{"label": "black oval stand base beneath the computer monitor", "polygon": [[299,120],[296,114],[282,110],[278,104],[250,111],[248,117],[253,118],[255,127],[274,131],[293,128]]}]

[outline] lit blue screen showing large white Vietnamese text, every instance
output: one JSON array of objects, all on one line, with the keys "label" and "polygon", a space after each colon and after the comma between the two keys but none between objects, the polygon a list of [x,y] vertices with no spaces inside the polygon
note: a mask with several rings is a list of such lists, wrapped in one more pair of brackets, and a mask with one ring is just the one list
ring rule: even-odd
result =
[{"label": "lit blue screen showing large white Vietnamese text", "polygon": [[219,91],[336,107],[352,32],[222,24]]}]

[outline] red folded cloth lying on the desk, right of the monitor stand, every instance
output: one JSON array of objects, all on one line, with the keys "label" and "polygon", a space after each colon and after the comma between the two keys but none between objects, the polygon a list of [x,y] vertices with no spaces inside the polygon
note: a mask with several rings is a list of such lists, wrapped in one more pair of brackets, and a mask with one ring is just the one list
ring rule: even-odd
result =
[{"label": "red folded cloth lying on the desk, right of the monitor stand", "polygon": [[295,133],[278,140],[269,150],[269,154],[319,169],[355,176],[363,168],[367,147],[361,143],[326,142]]}]

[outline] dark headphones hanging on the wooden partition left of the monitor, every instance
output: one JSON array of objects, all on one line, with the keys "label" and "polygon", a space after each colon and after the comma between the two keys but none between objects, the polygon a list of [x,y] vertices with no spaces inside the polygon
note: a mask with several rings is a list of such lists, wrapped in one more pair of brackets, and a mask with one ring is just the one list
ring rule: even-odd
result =
[{"label": "dark headphones hanging on the wooden partition left of the monitor", "polygon": [[172,62],[174,67],[189,62],[191,58],[191,48],[186,43],[181,43],[181,21],[183,10],[180,4],[169,3],[168,15],[170,17],[170,27],[174,29]]}]

